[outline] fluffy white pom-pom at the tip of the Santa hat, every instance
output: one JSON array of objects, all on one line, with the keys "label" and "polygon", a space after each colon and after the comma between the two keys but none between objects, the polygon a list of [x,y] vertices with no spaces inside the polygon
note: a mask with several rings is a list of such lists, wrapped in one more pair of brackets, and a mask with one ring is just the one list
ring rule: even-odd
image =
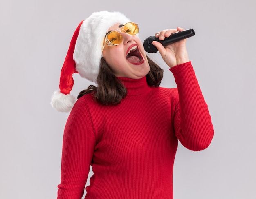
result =
[{"label": "fluffy white pom-pom at the tip of the Santa hat", "polygon": [[52,95],[52,107],[56,108],[60,112],[70,112],[76,102],[74,95],[65,95],[60,91],[55,91]]}]

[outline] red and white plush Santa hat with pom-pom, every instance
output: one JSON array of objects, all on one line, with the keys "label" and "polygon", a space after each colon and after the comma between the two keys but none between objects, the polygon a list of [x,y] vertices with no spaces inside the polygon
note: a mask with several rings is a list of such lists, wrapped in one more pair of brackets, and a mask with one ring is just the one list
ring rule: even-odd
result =
[{"label": "red and white plush Santa hat with pom-pom", "polygon": [[102,46],[109,27],[130,22],[119,12],[95,12],[80,22],[71,39],[69,49],[61,69],[59,91],[55,91],[51,104],[61,112],[69,112],[76,102],[70,95],[74,85],[73,73],[79,73],[96,83],[99,64],[102,57]]}]

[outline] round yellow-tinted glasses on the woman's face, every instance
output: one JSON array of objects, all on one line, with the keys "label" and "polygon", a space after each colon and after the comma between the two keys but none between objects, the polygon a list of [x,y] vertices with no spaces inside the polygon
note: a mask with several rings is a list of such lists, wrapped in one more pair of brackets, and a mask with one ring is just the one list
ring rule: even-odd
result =
[{"label": "round yellow-tinted glasses on the woman's face", "polygon": [[[121,29],[120,30],[121,32],[128,33],[130,35],[136,35],[139,32],[138,24],[135,24],[132,22],[128,22],[128,23],[124,24],[124,26],[119,29]],[[102,51],[106,45],[117,46],[118,44],[121,44],[121,42],[123,41],[123,37],[122,37],[120,31],[118,31],[119,29],[117,29],[115,31],[111,31],[110,33],[108,33],[106,35],[105,38],[107,38],[107,39],[102,47]]]}]

